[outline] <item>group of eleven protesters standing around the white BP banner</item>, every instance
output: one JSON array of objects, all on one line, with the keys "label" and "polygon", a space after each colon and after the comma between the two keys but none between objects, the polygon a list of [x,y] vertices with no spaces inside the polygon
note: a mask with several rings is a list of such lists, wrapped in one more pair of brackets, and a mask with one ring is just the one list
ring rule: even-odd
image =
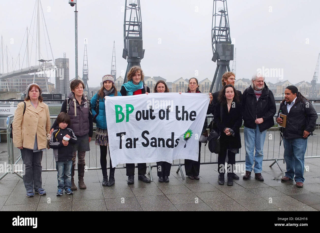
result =
[{"label": "group of eleven protesters standing around the white BP banner", "polygon": [[[78,155],[78,187],[85,189],[84,171],[85,154],[90,150],[89,143],[93,135],[93,122],[96,123],[95,144],[100,146],[100,164],[102,185],[115,184],[115,168],[110,157],[109,177],[107,174],[108,129],[105,110],[105,96],[132,96],[148,94],[150,89],[143,84],[144,74],[139,66],[133,66],[127,75],[128,82],[121,90],[116,90],[114,77],[102,77],[101,89],[91,98],[84,94],[84,83],[73,80],[70,94],[62,104],[60,114],[51,127],[48,106],[43,102],[41,89],[37,84],[30,84],[26,90],[27,97],[18,104],[12,123],[14,146],[21,150],[25,164],[23,182],[27,197],[46,194],[42,187],[41,160],[43,151],[52,148],[58,171],[58,192],[72,194],[77,189],[74,182],[76,155]],[[271,90],[261,74],[252,77],[251,85],[243,92],[234,87],[235,74],[226,72],[222,76],[223,88],[213,94],[209,93],[210,103],[207,114],[213,114],[213,121],[220,130],[220,153],[218,154],[218,183],[224,184],[227,170],[228,185],[233,179],[239,179],[235,173],[235,156],[241,148],[240,128],[244,121],[245,175],[243,179],[254,178],[263,181],[261,175],[263,145],[267,130],[273,127],[276,103]],[[154,92],[169,92],[162,80],[155,85]],[[188,93],[200,93],[196,78],[191,78]],[[181,92],[180,92],[181,94]],[[285,176],[282,181],[295,180],[296,186],[303,187],[304,154],[308,136],[315,130],[317,113],[308,100],[295,86],[286,87],[285,98],[280,104],[276,122],[284,123],[281,114],[286,115],[285,127],[281,127],[284,141]],[[204,123],[206,126],[206,122]],[[185,171],[189,179],[199,180],[200,173],[199,142],[198,161],[185,159]],[[254,153],[255,151],[255,153]],[[110,150],[109,150],[110,155]],[[228,155],[228,169],[224,166]],[[169,182],[171,164],[159,161],[157,175],[159,182]],[[254,166],[253,166],[254,164]],[[252,168],[253,166],[253,168]],[[146,177],[147,164],[138,163],[138,180],[150,183]],[[135,164],[126,164],[127,183],[134,183]]]}]

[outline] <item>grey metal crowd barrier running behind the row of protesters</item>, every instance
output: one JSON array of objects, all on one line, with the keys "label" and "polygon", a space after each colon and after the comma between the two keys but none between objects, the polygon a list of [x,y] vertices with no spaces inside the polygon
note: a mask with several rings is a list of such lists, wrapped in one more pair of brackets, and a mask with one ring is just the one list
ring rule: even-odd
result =
[{"label": "grey metal crowd barrier running behind the row of protesters", "polygon": [[[316,129],[313,132],[313,136],[308,137],[308,144],[307,144],[307,150],[305,153],[305,159],[307,158],[319,158],[320,157],[320,153],[318,153],[318,142],[319,142],[319,126],[320,126],[320,118],[318,114],[318,119],[316,122]],[[275,117],[275,122],[276,122],[276,115]],[[54,120],[56,119],[56,116],[51,116],[51,125],[53,124]],[[207,115],[206,116],[206,120],[208,120],[208,125],[210,123],[212,119],[212,115]],[[21,152],[20,149],[14,147],[12,139],[10,138],[10,124],[13,121],[13,115],[9,116],[7,118],[7,147],[8,147],[8,164],[18,164],[19,161],[21,160]],[[95,125],[94,125],[95,127]],[[242,148],[240,149],[240,153],[236,154],[236,163],[243,163],[245,162],[245,149],[244,149],[244,137],[243,135],[243,125],[241,127],[240,130],[240,137],[241,137],[241,144],[242,144]],[[94,138],[92,138],[92,140],[95,140]],[[283,161],[284,163],[284,147],[283,144],[280,146],[280,132],[279,132],[279,126],[276,123],[273,127],[271,127],[270,129],[268,129],[267,135],[266,135],[266,139],[265,139],[265,143],[264,143],[264,158],[263,161],[274,161],[271,165],[273,166],[274,164],[277,164],[279,166],[279,169],[283,172],[283,170],[280,167],[279,161]],[[320,148],[319,148],[320,150]],[[95,152],[95,156],[94,156],[94,152]],[[319,155],[319,156],[318,156]],[[86,168],[87,170],[98,170],[101,169],[101,167],[98,166],[98,157],[99,155],[97,154],[97,146],[95,147],[95,151],[90,150],[89,151],[89,156],[86,156],[86,164],[87,162],[89,163],[89,166]],[[44,161],[45,160],[45,161]],[[183,162],[182,162],[183,161]],[[53,157],[53,153],[51,153],[51,155],[47,155],[47,150],[45,151],[45,155],[44,158],[42,160],[42,166],[43,169],[42,171],[57,171],[55,169],[55,160]],[[44,164],[45,163],[45,164]],[[204,143],[201,143],[201,157],[200,157],[200,164],[217,164],[218,163],[218,155],[217,154],[213,154],[209,151],[208,147],[205,146]],[[172,161],[172,166],[178,166],[178,170],[176,171],[177,173],[180,171],[181,177],[182,179],[184,179],[184,174],[182,171],[181,166],[184,165],[184,159],[177,159]],[[152,168],[156,167],[155,163],[148,163],[147,164],[148,168],[149,168],[149,176],[151,181],[153,180],[152,178]],[[137,167],[137,166],[135,166]],[[110,167],[107,167],[108,169]],[[122,169],[125,168],[125,164],[120,164],[116,166],[116,169]],[[77,170],[77,168],[75,169]],[[19,174],[19,172],[22,171],[16,171],[14,169],[14,166],[11,166],[11,170],[7,173],[5,173],[2,177],[0,177],[0,180],[2,178],[4,178],[4,176],[6,176],[8,173],[12,173],[12,174],[16,174],[18,175],[20,178],[22,178],[22,176]]]}]

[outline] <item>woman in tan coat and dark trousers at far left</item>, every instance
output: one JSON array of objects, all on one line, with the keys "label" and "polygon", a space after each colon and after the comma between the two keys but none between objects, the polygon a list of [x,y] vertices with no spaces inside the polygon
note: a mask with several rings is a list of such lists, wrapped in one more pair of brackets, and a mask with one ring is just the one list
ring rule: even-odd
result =
[{"label": "woman in tan coat and dark trousers at far left", "polygon": [[41,160],[50,132],[50,113],[37,84],[30,84],[26,93],[25,101],[18,104],[14,113],[12,133],[14,146],[21,150],[25,164],[23,183],[27,197],[33,197],[34,192],[46,194],[42,188]]}]

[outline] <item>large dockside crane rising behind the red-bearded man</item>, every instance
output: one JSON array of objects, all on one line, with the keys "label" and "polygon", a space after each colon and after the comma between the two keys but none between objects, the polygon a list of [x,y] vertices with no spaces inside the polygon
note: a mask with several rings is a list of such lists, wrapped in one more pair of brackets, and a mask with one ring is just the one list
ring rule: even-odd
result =
[{"label": "large dockside crane rising behind the red-bearded man", "polygon": [[229,64],[233,60],[233,49],[234,45],[231,44],[230,37],[227,0],[214,0],[212,14],[212,61],[217,62],[217,68],[213,76],[210,92],[212,92],[218,73],[215,91],[221,90],[222,84],[220,80],[227,69],[230,71]]}]

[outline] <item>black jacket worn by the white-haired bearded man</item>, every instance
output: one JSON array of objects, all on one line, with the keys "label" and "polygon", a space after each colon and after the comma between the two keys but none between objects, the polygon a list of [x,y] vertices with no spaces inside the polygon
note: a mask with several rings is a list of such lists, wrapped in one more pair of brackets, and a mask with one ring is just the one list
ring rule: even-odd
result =
[{"label": "black jacket worn by the white-haired bearded man", "polygon": [[259,125],[260,132],[275,124],[273,117],[276,114],[276,102],[273,93],[269,90],[266,83],[264,85],[265,87],[258,101],[251,86],[245,89],[242,94],[244,126],[255,129],[257,125],[254,121],[257,118],[263,118],[263,122]]}]

